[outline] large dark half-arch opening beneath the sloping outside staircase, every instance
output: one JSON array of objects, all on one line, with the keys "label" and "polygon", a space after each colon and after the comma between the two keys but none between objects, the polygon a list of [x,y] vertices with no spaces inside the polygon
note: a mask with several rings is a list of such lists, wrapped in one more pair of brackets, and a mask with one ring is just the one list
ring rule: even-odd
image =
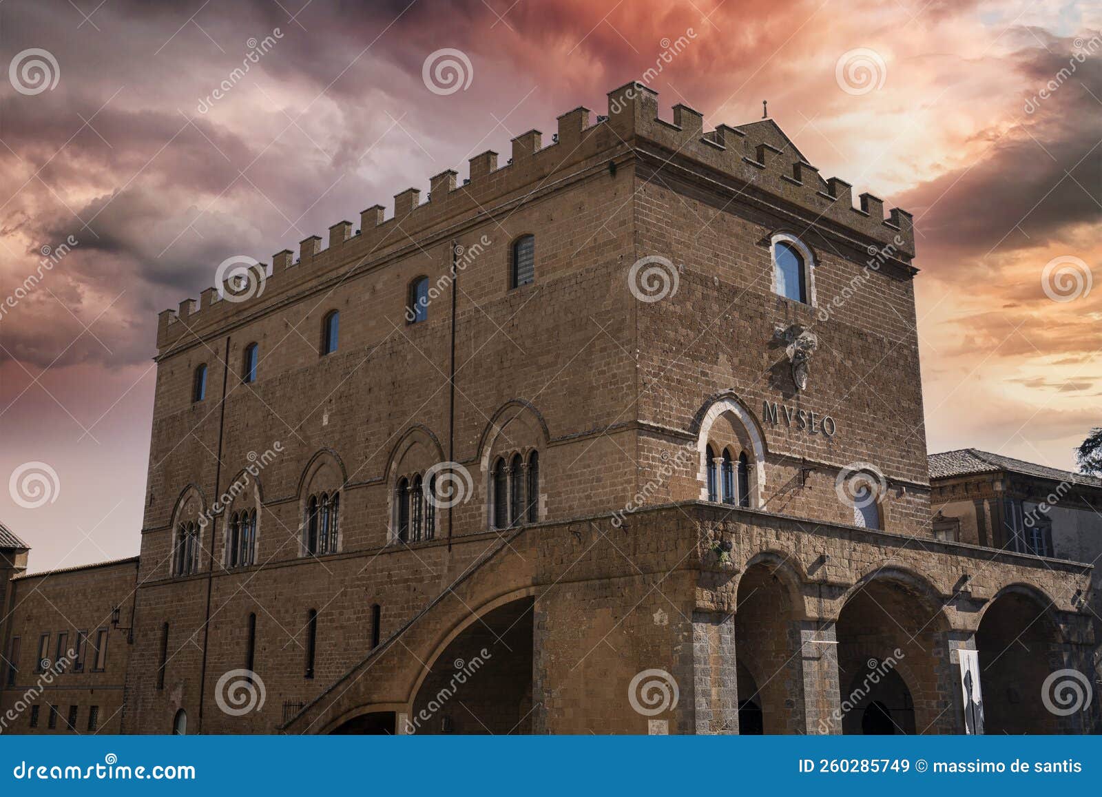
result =
[{"label": "large dark half-arch opening beneath the sloping outside staircase", "polygon": [[431,663],[408,733],[532,732],[532,597],[472,621]]}]

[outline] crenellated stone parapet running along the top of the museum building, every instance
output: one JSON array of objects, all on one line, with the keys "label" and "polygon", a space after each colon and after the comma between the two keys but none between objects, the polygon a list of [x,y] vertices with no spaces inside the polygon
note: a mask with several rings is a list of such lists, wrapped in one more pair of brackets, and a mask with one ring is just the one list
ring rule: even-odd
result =
[{"label": "crenellated stone parapet running along the top of the museum building", "polygon": [[[229,315],[248,313],[273,297],[299,290],[311,279],[352,262],[382,260],[418,235],[439,234],[485,213],[500,203],[521,202],[536,192],[532,185],[552,183],[551,174],[584,171],[608,161],[635,159],[646,170],[690,170],[714,184],[726,186],[746,201],[761,202],[793,216],[824,234],[833,230],[862,249],[878,249],[909,260],[915,256],[914,218],[900,208],[884,217],[884,203],[861,194],[853,204],[851,185],[839,177],[823,179],[771,119],[705,129],[704,117],[687,105],[672,108],[672,121],[659,117],[658,93],[640,83],[628,83],[608,93],[608,115],[593,123],[590,109],[579,107],[558,119],[554,142],[542,143],[539,130],[511,141],[511,158],[498,165],[498,154],[487,150],[469,159],[468,179],[445,170],[429,181],[429,196],[407,189],[395,195],[393,215],[382,205],[360,213],[360,229],[350,222],[334,224],[327,247],[310,236],[299,245],[299,259],[284,249],[272,257],[272,272],[264,291],[244,302],[220,302],[216,289],[204,290],[196,302],[186,299],[177,310],[160,314],[158,348],[166,352],[187,337],[210,334]],[[779,200],[779,202],[778,202]],[[854,235],[856,234],[856,235]],[[181,324],[180,322],[186,322]]]}]

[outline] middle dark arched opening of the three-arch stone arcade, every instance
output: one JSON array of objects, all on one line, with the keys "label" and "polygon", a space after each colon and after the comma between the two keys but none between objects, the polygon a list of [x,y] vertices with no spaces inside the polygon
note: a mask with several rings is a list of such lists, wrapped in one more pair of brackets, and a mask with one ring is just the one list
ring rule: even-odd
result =
[{"label": "middle dark arched opening of the three-arch stone arcade", "polygon": [[835,624],[842,733],[949,733],[948,621],[908,574],[864,581]]}]

